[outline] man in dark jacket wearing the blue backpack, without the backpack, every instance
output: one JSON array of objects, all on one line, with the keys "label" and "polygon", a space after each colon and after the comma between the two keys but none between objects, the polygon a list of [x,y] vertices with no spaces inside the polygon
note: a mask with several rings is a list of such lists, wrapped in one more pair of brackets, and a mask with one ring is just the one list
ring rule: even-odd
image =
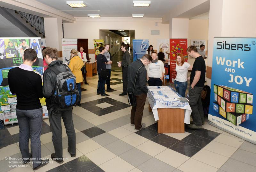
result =
[{"label": "man in dark jacket wearing the blue backpack, without the backpack", "polygon": [[[70,70],[67,65],[62,64],[58,60],[58,51],[56,48],[46,47],[43,51],[43,56],[49,67],[56,68],[59,72]],[[52,129],[52,143],[55,153],[51,154],[51,158],[58,162],[63,162],[62,152],[62,127],[61,118],[66,128],[68,135],[68,152],[71,157],[76,156],[76,133],[72,119],[72,107],[60,109],[58,104],[54,102],[54,92],[56,91],[57,75],[49,68],[44,71],[43,94],[46,98],[46,106],[48,109],[49,121]]]}]

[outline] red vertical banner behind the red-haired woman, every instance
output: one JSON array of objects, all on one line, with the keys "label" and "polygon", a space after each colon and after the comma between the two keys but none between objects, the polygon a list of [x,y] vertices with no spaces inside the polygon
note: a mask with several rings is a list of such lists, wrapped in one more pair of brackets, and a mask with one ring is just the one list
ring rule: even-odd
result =
[{"label": "red vertical banner behind the red-haired woman", "polygon": [[170,82],[176,78],[176,57],[177,54],[183,54],[185,61],[188,62],[188,39],[170,39]]}]

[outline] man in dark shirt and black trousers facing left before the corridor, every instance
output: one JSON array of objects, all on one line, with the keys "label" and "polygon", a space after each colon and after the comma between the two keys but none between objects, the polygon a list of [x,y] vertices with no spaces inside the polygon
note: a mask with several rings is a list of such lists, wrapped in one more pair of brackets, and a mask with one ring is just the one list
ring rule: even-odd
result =
[{"label": "man in dark shirt and black trousers facing left before the corridor", "polygon": [[122,73],[123,73],[123,92],[119,94],[119,96],[127,95],[127,70],[128,66],[131,63],[131,55],[128,52],[128,46],[123,44],[121,46],[121,50],[124,52],[123,54],[123,61],[118,64],[118,67],[122,66]]}]

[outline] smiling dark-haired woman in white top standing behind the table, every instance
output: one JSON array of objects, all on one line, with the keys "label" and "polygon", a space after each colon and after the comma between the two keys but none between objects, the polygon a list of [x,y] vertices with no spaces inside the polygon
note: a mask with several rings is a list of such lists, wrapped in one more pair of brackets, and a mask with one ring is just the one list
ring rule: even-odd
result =
[{"label": "smiling dark-haired woman in white top standing behind the table", "polygon": [[149,86],[161,86],[165,74],[164,63],[158,60],[156,52],[151,53],[152,61],[147,67],[147,80]]}]

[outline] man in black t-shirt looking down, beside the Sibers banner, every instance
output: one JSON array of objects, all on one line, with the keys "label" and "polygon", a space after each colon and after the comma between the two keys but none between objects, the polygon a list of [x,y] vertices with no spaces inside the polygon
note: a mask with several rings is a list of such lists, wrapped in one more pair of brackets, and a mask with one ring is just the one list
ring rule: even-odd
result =
[{"label": "man in black t-shirt looking down, beside the Sibers banner", "polygon": [[201,92],[204,88],[205,78],[205,62],[203,57],[197,52],[195,46],[189,46],[187,49],[188,55],[196,58],[190,74],[190,86],[188,90],[189,105],[192,109],[191,116],[193,124],[189,124],[188,128],[203,130],[204,124],[204,111],[201,101]]}]

